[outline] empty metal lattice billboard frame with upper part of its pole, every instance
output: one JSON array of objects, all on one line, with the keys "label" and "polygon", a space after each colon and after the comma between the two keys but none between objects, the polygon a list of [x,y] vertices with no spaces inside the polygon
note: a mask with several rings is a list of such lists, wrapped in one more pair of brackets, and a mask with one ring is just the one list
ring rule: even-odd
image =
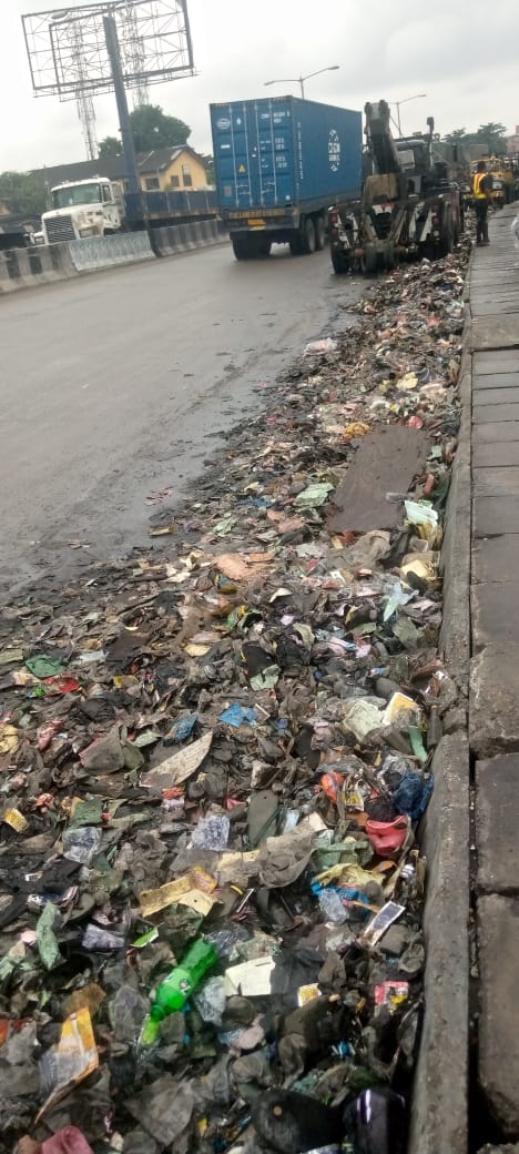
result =
[{"label": "empty metal lattice billboard frame with upper part of its pole", "polygon": [[29,13],[22,24],[33,95],[76,100],[92,158],[93,97],[116,93],[114,43],[119,83],[135,91],[136,103],[145,103],[150,84],[195,75],[187,0],[105,0]]}]

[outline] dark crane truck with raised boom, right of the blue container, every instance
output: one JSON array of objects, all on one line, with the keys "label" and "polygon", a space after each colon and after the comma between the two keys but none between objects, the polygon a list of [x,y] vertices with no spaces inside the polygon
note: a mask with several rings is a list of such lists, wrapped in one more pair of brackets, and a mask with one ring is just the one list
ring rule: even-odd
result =
[{"label": "dark crane truck with raised boom, right of the blue container", "polygon": [[329,209],[336,272],[392,269],[400,257],[445,256],[464,226],[458,185],[435,160],[434,119],[427,134],[393,138],[385,100],[364,107],[367,150],[361,197]]}]

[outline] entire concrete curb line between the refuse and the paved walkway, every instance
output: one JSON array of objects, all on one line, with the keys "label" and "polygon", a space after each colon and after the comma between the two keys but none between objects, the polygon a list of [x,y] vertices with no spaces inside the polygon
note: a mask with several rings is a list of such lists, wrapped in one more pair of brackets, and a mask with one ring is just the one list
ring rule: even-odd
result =
[{"label": "entire concrete curb line between the refuse and the paved walkway", "polygon": [[[467,272],[468,286],[469,270]],[[467,301],[467,288],[464,300]],[[469,1077],[471,760],[471,309],[465,306],[459,375],[461,420],[442,548],[444,610],[439,646],[458,688],[444,721],[422,824],[428,862],[424,909],[426,1009],[416,1065],[409,1154],[467,1154]]]}]

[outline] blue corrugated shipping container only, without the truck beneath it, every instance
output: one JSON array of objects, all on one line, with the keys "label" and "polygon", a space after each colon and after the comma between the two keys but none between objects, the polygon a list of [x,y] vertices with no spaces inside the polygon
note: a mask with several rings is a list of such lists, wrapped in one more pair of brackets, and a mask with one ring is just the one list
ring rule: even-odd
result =
[{"label": "blue corrugated shipping container only, without the truck beneath it", "polygon": [[362,117],[293,96],[211,105],[220,209],[318,207],[359,194]]}]

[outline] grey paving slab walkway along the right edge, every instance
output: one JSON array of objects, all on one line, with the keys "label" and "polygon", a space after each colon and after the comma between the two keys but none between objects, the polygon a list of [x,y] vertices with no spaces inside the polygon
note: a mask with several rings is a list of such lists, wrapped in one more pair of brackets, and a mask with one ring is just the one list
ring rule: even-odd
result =
[{"label": "grey paving slab walkway along the right edge", "polygon": [[519,1138],[518,212],[510,205],[492,218],[491,245],[476,249],[468,285],[479,1080],[503,1140]]}]

